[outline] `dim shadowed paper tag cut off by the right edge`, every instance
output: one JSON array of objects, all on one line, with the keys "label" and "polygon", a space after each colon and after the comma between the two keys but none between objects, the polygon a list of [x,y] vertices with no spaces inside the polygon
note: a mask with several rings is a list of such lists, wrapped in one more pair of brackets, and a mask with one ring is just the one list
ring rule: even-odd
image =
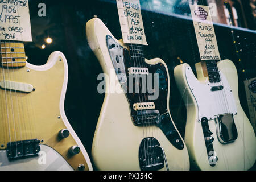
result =
[{"label": "dim shadowed paper tag cut off by the right edge", "polygon": [[253,125],[254,131],[256,131],[256,78],[251,78],[250,80],[245,80],[243,82],[245,84],[250,122],[251,125]]}]

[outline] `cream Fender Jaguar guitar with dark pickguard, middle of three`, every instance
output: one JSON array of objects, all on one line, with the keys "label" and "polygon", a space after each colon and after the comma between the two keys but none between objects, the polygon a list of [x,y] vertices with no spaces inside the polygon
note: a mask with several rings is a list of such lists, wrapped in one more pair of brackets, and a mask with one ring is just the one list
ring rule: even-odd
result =
[{"label": "cream Fender Jaguar guitar with dark pickguard, middle of three", "polygon": [[[164,61],[144,59],[142,45],[118,41],[98,18],[86,23],[86,36],[104,73],[109,78],[114,73],[115,78],[114,85],[105,79],[105,99],[93,139],[97,169],[188,170],[188,151],[168,107],[170,81]],[[148,79],[150,73],[159,75],[158,99],[122,89],[125,84],[129,89],[133,78]],[[135,82],[134,87],[141,85]],[[113,93],[113,88],[119,92]]]}]

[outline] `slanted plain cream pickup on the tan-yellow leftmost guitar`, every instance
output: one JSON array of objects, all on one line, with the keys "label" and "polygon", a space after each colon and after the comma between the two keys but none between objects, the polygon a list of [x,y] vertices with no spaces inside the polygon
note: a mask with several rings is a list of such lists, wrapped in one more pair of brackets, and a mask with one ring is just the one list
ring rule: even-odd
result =
[{"label": "slanted plain cream pickup on the tan-yellow leftmost guitar", "polygon": [[24,84],[22,82],[8,80],[0,81],[0,88],[26,93],[30,93],[33,91],[33,86],[31,84]]}]

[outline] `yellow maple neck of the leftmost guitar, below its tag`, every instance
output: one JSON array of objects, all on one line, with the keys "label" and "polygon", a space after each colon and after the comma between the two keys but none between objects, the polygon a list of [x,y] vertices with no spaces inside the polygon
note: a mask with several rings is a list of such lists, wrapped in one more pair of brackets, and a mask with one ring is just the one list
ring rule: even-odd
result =
[{"label": "yellow maple neck of the leftmost guitar, below its tag", "polygon": [[1,67],[24,67],[26,55],[23,42],[0,40],[0,65]]}]

